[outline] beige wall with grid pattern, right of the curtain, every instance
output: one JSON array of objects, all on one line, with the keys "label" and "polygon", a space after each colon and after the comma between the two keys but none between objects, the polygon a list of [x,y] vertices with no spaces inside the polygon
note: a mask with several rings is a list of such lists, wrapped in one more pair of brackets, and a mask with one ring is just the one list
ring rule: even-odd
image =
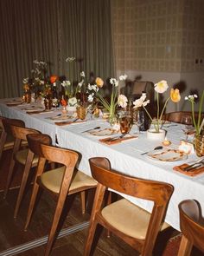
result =
[{"label": "beige wall with grid pattern, right of the curtain", "polygon": [[117,75],[180,83],[182,101],[167,111],[188,109],[184,96],[203,90],[204,1],[112,0],[112,27]]}]

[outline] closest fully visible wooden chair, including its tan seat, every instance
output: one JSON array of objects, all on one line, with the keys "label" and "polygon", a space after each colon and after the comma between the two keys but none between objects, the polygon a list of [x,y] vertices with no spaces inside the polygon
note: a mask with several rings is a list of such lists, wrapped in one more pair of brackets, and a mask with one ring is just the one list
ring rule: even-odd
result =
[{"label": "closest fully visible wooden chair, including its tan seat", "polygon": [[[134,247],[141,255],[152,255],[157,234],[169,225],[163,218],[173,193],[173,186],[159,181],[137,179],[119,174],[111,169],[105,158],[91,158],[92,177],[98,181],[92,207],[92,215],[84,255],[89,255],[97,224],[115,233]],[[110,187],[119,193],[154,202],[152,213],[148,213],[129,200],[118,200],[101,207],[105,190]]]}]

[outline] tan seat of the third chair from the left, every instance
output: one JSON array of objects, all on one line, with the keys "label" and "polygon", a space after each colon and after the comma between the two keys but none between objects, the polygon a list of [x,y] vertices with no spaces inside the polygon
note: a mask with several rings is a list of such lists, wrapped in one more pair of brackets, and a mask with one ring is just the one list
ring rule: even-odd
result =
[{"label": "tan seat of the third chair from the left", "polygon": [[[50,191],[59,194],[64,170],[64,167],[59,167],[41,174],[42,185],[47,187]],[[97,181],[78,170],[73,174],[73,180],[69,188],[69,194],[72,194],[72,190],[75,190],[79,187],[92,187],[96,185]]]}]

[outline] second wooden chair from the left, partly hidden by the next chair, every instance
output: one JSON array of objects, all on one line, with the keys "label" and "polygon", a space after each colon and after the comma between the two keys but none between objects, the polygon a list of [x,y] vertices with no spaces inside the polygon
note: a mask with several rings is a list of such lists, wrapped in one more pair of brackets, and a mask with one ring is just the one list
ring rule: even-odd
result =
[{"label": "second wooden chair from the left, partly hidden by the next chair", "polygon": [[24,128],[24,127],[14,126],[11,124],[10,124],[10,131],[13,137],[15,138],[15,143],[14,143],[14,148],[11,155],[10,168],[9,168],[8,178],[7,178],[6,187],[4,191],[4,197],[6,197],[8,193],[8,190],[10,187],[10,181],[14,173],[15,164],[18,163],[24,167],[23,173],[22,173],[22,181],[19,188],[19,192],[16,200],[16,207],[14,211],[14,218],[16,219],[16,216],[22,201],[22,196],[24,194],[25,187],[29,178],[29,172],[32,167],[37,166],[37,162],[38,162],[38,157],[35,154],[33,154],[33,152],[29,150],[29,148],[21,149],[22,141],[27,142],[26,135],[40,134],[41,132],[32,128]]}]

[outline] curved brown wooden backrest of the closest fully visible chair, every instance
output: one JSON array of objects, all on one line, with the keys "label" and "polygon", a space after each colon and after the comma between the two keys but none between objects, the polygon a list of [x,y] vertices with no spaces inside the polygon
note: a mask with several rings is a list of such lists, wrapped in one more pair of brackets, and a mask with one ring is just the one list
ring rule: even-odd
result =
[{"label": "curved brown wooden backrest of the closest fully visible chair", "polygon": [[[138,179],[125,174],[120,174],[109,168],[108,160],[94,157],[89,160],[92,177],[105,187],[110,187],[120,193],[129,194],[137,198],[152,200],[156,207],[166,207],[173,193],[173,186],[160,182]],[[106,167],[103,167],[105,162]]]}]

